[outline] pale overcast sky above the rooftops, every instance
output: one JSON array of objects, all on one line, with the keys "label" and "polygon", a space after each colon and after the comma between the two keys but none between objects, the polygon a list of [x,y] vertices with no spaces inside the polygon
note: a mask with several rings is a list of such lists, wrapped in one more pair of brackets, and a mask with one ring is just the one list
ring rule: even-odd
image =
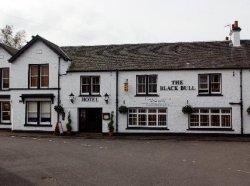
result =
[{"label": "pale overcast sky above the rooftops", "polygon": [[1,0],[0,27],[58,45],[224,40],[239,20],[250,39],[249,0]]}]

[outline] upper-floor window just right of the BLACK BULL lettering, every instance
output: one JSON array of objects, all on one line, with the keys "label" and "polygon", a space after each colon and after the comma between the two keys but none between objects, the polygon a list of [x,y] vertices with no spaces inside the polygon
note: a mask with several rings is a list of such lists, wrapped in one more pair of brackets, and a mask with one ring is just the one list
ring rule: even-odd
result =
[{"label": "upper-floor window just right of the BLACK BULL lettering", "polygon": [[199,74],[199,94],[221,94],[221,74]]}]

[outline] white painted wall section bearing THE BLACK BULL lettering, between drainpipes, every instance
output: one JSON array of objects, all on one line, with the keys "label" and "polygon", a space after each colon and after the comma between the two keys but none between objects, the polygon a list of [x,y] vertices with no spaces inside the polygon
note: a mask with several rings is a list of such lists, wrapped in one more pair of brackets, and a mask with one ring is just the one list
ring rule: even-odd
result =
[{"label": "white painted wall section bearing THE BLACK BULL lettering, between drainpipes", "polygon": [[[197,96],[198,74],[221,73],[223,96]],[[163,100],[168,108],[168,131],[157,130],[127,130],[127,115],[119,114],[119,132],[174,132],[174,133],[216,133],[216,131],[190,131],[188,116],[182,113],[182,107],[187,101],[193,107],[230,107],[232,108],[232,128],[234,131],[219,131],[219,133],[240,133],[240,107],[230,105],[230,102],[240,101],[240,74],[237,70],[193,70],[193,71],[152,71],[152,72],[120,72],[119,73],[119,103],[127,107],[157,107],[150,106],[149,99]],[[158,74],[159,97],[135,97],[136,75]],[[123,83],[128,79],[129,91],[123,91]],[[172,80],[183,80],[185,85],[195,86],[192,91],[160,91],[161,85],[171,85]],[[119,105],[119,106],[120,106]],[[147,106],[149,105],[149,106]]]}]

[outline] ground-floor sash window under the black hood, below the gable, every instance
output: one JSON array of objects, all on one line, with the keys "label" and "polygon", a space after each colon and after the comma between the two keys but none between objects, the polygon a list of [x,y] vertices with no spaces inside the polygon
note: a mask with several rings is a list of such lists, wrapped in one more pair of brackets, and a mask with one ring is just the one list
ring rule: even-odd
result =
[{"label": "ground-floor sash window under the black hood, below the gable", "polygon": [[50,101],[27,101],[26,124],[48,125],[51,123]]}]

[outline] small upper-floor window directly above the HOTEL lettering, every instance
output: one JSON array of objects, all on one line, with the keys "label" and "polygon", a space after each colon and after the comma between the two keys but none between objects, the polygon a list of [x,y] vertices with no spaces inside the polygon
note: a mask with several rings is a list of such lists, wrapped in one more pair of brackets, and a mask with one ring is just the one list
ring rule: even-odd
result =
[{"label": "small upper-floor window directly above the HOTEL lettering", "polygon": [[81,94],[100,95],[100,76],[82,76]]}]

